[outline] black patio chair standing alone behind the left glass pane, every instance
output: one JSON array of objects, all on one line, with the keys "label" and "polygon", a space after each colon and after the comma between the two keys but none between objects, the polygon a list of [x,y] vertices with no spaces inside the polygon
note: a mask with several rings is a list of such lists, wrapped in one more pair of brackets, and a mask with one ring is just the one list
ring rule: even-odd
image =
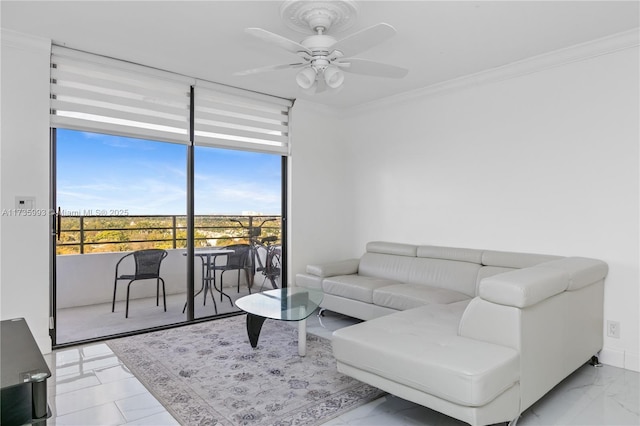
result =
[{"label": "black patio chair standing alone behind the left glass pane", "polygon": [[[133,256],[135,262],[135,272],[133,275],[131,274],[122,274],[118,275],[118,268],[120,267],[120,263],[123,260],[128,258],[129,256]],[[156,280],[156,306],[160,304],[160,281],[162,281],[162,301],[164,303],[164,311],[167,312],[167,298],[165,294],[164,288],[164,280],[160,277],[160,264],[162,260],[167,257],[166,250],[162,249],[147,249],[147,250],[138,250],[127,255],[124,255],[118,263],[116,263],[116,277],[113,281],[113,302],[111,302],[111,312],[115,312],[116,307],[116,290],[118,288],[119,280],[127,280],[129,283],[127,284],[127,305],[125,310],[125,318],[129,318],[129,290],[131,288],[131,284],[134,281],[140,280]]]}]

